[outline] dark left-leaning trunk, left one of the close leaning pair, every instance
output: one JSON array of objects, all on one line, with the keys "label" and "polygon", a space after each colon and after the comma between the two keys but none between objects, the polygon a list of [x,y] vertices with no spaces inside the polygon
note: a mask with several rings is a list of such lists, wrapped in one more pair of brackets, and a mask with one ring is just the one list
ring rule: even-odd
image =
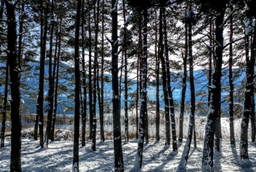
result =
[{"label": "dark left-leaning trunk, left one of the close leaning pair", "polygon": [[160,8],[159,13],[159,58],[162,64],[162,80],[163,80],[163,92],[164,92],[164,113],[165,113],[165,145],[170,145],[170,106],[168,100],[168,89],[166,81],[166,63],[164,59],[164,44],[163,44],[163,7]]}]

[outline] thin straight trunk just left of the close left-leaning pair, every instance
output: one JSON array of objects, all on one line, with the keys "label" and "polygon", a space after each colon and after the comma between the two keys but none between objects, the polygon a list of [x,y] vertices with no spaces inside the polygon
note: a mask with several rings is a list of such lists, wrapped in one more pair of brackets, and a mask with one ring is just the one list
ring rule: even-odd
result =
[{"label": "thin straight trunk just left of the close left-leaning pair", "polygon": [[160,140],[160,100],[159,100],[159,71],[160,59],[157,51],[157,11],[155,11],[156,38],[155,38],[155,55],[156,55],[156,141]]}]

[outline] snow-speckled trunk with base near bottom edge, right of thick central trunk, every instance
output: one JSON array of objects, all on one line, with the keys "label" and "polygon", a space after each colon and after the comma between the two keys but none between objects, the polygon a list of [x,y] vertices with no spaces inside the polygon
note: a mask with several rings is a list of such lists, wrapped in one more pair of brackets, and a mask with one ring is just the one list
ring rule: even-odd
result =
[{"label": "snow-speckled trunk with base near bottom edge, right of thick central trunk", "polygon": [[143,146],[145,137],[145,118],[147,118],[147,21],[148,20],[148,9],[143,8],[143,57],[142,61],[142,80],[141,80],[141,106],[140,106],[140,120],[139,120],[139,140],[137,149],[138,166],[141,169],[142,166],[142,156],[143,156]]}]

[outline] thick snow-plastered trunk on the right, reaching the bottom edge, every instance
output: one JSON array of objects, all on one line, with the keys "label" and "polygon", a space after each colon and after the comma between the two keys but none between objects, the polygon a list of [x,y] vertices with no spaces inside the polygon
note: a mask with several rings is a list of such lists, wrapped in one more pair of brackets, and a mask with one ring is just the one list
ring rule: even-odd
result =
[{"label": "thick snow-plastered trunk on the right, reaching the bottom edge", "polygon": [[[225,15],[225,7],[220,8],[216,16],[215,35],[218,42],[214,55],[214,71],[212,75],[211,101],[207,114],[207,124],[205,126],[204,152],[202,159],[202,171],[213,171],[213,147],[214,134],[216,134],[216,150],[220,150],[221,128],[220,126],[220,103],[221,103],[221,68],[223,54],[223,21]],[[219,125],[217,125],[218,123]]]}]

